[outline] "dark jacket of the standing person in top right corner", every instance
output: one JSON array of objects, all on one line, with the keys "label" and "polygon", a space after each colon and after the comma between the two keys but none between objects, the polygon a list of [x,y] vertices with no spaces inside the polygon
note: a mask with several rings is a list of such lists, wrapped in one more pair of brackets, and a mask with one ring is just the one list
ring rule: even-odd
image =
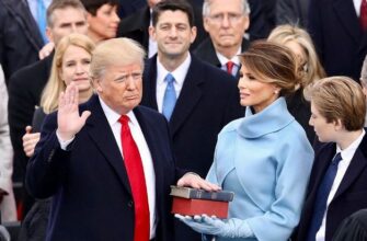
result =
[{"label": "dark jacket of the standing person in top right corner", "polygon": [[309,32],[328,76],[348,76],[359,81],[367,54],[353,0],[310,0]]}]

